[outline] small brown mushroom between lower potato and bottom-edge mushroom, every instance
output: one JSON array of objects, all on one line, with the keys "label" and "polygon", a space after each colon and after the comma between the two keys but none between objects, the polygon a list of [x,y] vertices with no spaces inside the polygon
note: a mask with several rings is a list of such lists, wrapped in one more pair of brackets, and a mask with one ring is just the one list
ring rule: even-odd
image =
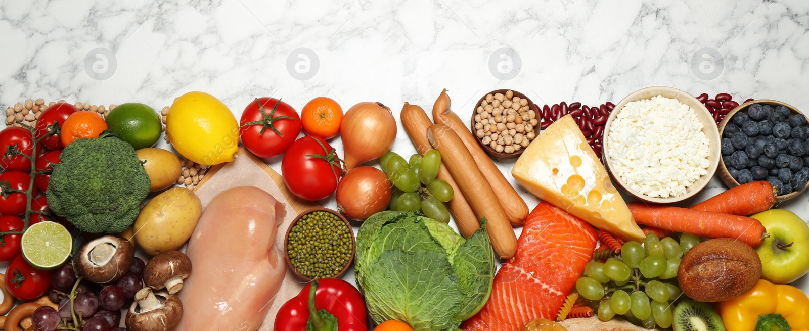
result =
[{"label": "small brown mushroom between lower potato and bottom-edge mushroom", "polygon": [[154,290],[168,291],[173,295],[183,288],[183,279],[191,274],[191,259],[183,252],[162,252],[143,268],[143,283]]}]

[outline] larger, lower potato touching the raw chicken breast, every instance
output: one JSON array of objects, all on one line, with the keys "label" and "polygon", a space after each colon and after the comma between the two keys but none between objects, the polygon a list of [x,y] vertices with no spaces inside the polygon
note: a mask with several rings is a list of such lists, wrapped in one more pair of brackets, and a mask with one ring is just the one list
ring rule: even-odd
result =
[{"label": "larger, lower potato touching the raw chicken breast", "polygon": [[202,214],[202,202],[189,189],[172,188],[160,193],[135,220],[135,241],[149,255],[180,248]]}]

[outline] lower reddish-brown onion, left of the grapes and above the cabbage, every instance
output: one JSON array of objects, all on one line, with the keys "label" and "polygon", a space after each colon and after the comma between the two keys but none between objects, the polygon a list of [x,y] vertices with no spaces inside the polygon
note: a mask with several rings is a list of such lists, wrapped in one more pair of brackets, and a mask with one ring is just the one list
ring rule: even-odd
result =
[{"label": "lower reddish-brown onion, left of the grapes and above the cabbage", "polygon": [[391,202],[391,181],[374,167],[358,167],[345,174],[337,185],[337,210],[348,219],[364,221]]}]

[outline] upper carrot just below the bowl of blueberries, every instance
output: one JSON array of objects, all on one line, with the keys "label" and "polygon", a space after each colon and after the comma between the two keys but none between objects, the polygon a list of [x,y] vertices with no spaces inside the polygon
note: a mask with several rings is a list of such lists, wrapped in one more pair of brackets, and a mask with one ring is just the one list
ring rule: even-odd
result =
[{"label": "upper carrot just below the bowl of blueberries", "polygon": [[769,210],[774,204],[773,185],[765,180],[759,180],[728,189],[691,209],[747,216]]}]

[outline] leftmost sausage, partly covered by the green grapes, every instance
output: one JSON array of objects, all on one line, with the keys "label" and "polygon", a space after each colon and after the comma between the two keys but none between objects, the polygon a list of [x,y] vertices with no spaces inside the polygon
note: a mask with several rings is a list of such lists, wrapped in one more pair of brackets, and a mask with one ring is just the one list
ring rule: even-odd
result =
[{"label": "leftmost sausage, partly covered by the green grapes", "polygon": [[[424,112],[423,108],[405,102],[404,107],[402,107],[401,122],[404,126],[404,131],[407,131],[410,140],[416,146],[418,154],[424,156],[427,151],[433,149],[430,142],[427,141],[427,128],[433,123],[430,121],[430,117],[427,117],[427,113]],[[450,175],[443,163],[441,168],[438,168],[438,176],[436,177],[446,181],[452,187],[454,194],[452,199],[447,202],[447,206],[455,218],[455,224],[458,225],[461,236],[464,236],[464,238],[472,236],[475,230],[481,227],[481,223],[477,221],[477,216],[472,211],[472,206],[469,206],[464,193],[461,192],[458,184],[452,179],[452,175]]]}]

